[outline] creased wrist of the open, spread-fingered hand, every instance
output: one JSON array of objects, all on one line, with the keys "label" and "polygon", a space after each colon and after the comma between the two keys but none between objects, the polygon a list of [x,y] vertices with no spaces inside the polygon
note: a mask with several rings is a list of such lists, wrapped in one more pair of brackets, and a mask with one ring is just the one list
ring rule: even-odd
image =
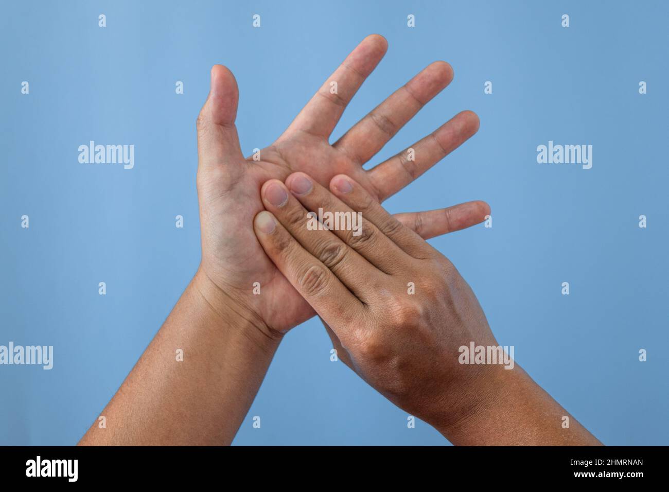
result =
[{"label": "creased wrist of the open, spread-fingered hand", "polygon": [[234,329],[248,337],[264,351],[276,351],[283,336],[262,320],[262,318],[230,293],[221,289],[200,266],[191,282],[202,309],[217,320],[217,324]]}]

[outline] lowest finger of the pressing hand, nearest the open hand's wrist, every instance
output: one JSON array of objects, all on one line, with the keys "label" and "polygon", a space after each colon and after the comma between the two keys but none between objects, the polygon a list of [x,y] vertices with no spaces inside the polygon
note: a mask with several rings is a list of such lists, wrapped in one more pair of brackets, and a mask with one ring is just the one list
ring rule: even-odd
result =
[{"label": "lowest finger of the pressing hand, nearest the open hand's wrist", "polygon": [[320,317],[332,321],[341,318],[342,313],[361,315],[361,302],[270,212],[263,210],[256,216],[254,231],[270,260]]}]

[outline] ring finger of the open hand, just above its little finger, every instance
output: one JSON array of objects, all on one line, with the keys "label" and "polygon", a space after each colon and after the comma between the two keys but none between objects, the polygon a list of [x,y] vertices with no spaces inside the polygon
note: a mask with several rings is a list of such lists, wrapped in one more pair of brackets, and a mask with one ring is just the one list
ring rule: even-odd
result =
[{"label": "ring finger of the open hand, just above its little finger", "polygon": [[[369,179],[379,192],[379,199],[397,193],[446,155],[460,147],[478,130],[478,116],[463,111],[444,123],[434,133],[421,139],[409,149],[400,152],[369,171]],[[413,152],[409,151],[413,149]],[[410,159],[413,157],[413,160]]]}]

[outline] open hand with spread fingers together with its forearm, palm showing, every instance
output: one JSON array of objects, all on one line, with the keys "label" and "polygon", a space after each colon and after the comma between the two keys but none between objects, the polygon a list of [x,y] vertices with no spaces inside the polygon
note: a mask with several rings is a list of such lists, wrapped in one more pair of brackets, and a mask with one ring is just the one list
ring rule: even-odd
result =
[{"label": "open hand with spread fingers together with its forearm, palm showing", "polygon": [[[377,201],[393,195],[478,129],[470,111],[457,114],[373,169],[363,169],[416,112],[452,80],[445,62],[427,66],[339,141],[328,139],[345,106],[377,66],[387,43],[363,40],[260,160],[245,158],[235,128],[235,78],[214,66],[211,89],[197,118],[202,259],[197,273],[145,353],[80,444],[229,444],[250,407],[284,334],[315,313],[266,256],[253,219],[264,209],[260,187],[295,171],[327,185],[351,175]],[[337,94],[330,82],[337,82]],[[482,201],[429,212],[398,214],[423,238],[478,224],[490,213]],[[261,294],[254,295],[254,283]],[[175,353],[183,350],[183,361]]]}]

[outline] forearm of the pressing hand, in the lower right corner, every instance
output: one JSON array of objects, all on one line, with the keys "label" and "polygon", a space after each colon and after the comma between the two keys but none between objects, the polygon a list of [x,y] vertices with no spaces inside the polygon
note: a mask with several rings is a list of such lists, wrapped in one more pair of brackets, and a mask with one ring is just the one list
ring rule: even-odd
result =
[{"label": "forearm of the pressing hand, in the lower right corner", "polygon": [[456,418],[437,418],[436,428],[453,444],[601,445],[519,365],[512,370],[492,366],[489,372],[464,398],[472,402],[466,412]]}]

